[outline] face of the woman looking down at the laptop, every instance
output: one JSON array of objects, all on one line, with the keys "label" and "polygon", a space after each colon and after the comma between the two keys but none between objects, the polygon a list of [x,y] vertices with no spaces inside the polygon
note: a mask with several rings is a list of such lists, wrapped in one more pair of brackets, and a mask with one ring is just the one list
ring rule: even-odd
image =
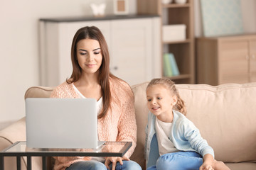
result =
[{"label": "face of the woman looking down at the laptop", "polygon": [[102,53],[100,43],[97,40],[83,39],[78,41],[76,52],[82,74],[93,74],[100,69]]}]

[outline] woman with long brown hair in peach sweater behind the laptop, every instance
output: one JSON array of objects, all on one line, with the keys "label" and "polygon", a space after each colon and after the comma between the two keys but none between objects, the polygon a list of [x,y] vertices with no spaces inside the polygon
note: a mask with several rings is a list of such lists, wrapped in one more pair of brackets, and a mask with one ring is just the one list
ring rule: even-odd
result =
[{"label": "woman with long brown hair in peach sweater behind the laptop", "polygon": [[80,28],[71,48],[73,73],[60,84],[53,98],[95,98],[98,138],[101,141],[131,141],[124,157],[55,157],[55,170],[141,169],[129,161],[137,141],[134,94],[130,86],[110,74],[107,42],[95,26]]}]

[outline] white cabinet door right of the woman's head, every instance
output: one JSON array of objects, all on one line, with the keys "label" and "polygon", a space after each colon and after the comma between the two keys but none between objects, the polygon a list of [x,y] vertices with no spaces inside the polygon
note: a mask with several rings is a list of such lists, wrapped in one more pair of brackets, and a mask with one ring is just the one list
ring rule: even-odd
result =
[{"label": "white cabinet door right of the woman's head", "polygon": [[130,85],[149,81],[154,72],[152,19],[116,20],[111,26],[110,72]]}]

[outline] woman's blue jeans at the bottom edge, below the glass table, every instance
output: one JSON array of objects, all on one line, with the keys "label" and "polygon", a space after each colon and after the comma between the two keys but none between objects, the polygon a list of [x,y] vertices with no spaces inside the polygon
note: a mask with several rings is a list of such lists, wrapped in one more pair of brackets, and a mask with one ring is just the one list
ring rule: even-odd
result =
[{"label": "woman's blue jeans at the bottom edge, below the glass table", "polygon": [[[112,164],[110,164],[112,169]],[[71,164],[65,170],[107,170],[107,167],[102,162],[97,161],[81,161]],[[116,170],[141,170],[141,166],[133,161],[123,161],[123,164],[117,162]]]}]

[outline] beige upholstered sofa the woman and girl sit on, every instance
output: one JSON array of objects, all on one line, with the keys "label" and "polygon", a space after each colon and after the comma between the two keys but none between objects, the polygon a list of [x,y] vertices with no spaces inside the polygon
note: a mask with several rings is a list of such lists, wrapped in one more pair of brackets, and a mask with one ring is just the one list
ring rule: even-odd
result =
[{"label": "beige upholstered sofa the woman and girl sit on", "polygon": [[[147,83],[132,86],[138,125],[137,148],[132,159],[144,167],[144,128],[147,121]],[[256,169],[256,83],[176,85],[186,102],[187,118],[201,131],[201,135],[215,150],[215,159],[232,170]],[[31,87],[28,97],[48,97],[53,88]],[[0,131],[0,150],[18,140],[26,140],[25,118]],[[7,170],[16,168],[16,159],[5,159]],[[41,169],[41,159],[34,158],[33,169]],[[26,169],[26,159],[22,161]]]}]

